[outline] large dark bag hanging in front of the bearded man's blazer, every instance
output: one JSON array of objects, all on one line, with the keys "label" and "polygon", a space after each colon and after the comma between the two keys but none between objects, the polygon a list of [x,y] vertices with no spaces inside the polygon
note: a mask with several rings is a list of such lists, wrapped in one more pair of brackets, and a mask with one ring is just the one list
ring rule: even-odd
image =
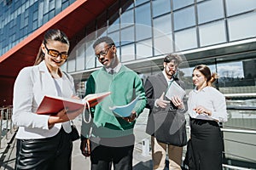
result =
[{"label": "large dark bag hanging in front of the bearded man's blazer", "polygon": [[155,113],[154,123],[158,126],[154,132],[154,137],[158,141],[180,147],[187,144],[186,120],[183,113],[178,111]]}]

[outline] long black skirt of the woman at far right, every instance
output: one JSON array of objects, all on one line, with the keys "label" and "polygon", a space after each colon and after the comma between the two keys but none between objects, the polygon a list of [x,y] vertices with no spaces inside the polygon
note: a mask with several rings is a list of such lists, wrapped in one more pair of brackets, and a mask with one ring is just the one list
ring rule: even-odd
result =
[{"label": "long black skirt of the woman at far right", "polygon": [[222,170],[224,143],[218,122],[191,119],[191,144],[196,170]]}]

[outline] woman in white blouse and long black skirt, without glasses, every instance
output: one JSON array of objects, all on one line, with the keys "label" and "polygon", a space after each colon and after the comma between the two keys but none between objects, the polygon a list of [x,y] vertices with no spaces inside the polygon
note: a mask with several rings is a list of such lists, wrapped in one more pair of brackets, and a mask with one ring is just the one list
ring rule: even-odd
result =
[{"label": "woman in white blouse and long black skirt, without glasses", "polygon": [[216,78],[207,65],[197,65],[193,70],[195,89],[188,100],[192,144],[189,151],[196,170],[222,169],[224,145],[218,122],[227,122],[227,111],[224,95],[212,88]]}]

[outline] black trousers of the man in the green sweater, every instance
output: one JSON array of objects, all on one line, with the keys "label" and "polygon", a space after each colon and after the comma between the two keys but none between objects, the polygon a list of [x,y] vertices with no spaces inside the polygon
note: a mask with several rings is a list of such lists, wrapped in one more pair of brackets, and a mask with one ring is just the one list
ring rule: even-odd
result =
[{"label": "black trousers of the man in the green sweater", "polygon": [[113,145],[91,141],[91,170],[111,170],[112,164],[114,170],[131,170],[133,148],[134,143],[132,145],[114,147]]}]

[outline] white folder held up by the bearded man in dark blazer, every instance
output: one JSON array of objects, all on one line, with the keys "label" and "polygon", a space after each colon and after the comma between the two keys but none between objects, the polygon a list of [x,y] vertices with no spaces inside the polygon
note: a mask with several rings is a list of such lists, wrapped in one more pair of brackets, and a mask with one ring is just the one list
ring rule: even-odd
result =
[{"label": "white folder held up by the bearded man in dark blazer", "polygon": [[177,96],[179,99],[183,99],[185,95],[185,90],[181,88],[175,81],[172,82],[171,86],[166,92],[166,98],[168,99],[172,99],[173,96]]}]

